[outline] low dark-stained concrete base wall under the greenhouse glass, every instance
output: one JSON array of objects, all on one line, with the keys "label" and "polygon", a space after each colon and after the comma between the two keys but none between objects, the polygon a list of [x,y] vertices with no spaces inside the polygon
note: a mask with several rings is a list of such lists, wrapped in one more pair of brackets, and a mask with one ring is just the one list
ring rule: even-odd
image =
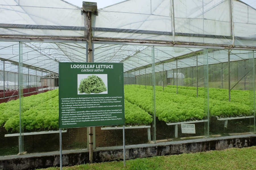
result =
[{"label": "low dark-stained concrete base wall under the greenhouse glass", "polygon": [[[204,152],[208,150],[224,150],[227,148],[242,148],[256,145],[256,137],[243,137],[233,139],[221,139],[203,142],[149,146],[126,149],[126,159],[146,158],[182,154],[189,152]],[[123,150],[102,150],[93,154],[95,162],[123,160]],[[89,162],[89,153],[63,154],[63,166],[79,165]],[[16,158],[0,160],[0,170],[29,170],[35,168],[47,168],[59,166],[59,155],[38,156],[29,158]]]}]

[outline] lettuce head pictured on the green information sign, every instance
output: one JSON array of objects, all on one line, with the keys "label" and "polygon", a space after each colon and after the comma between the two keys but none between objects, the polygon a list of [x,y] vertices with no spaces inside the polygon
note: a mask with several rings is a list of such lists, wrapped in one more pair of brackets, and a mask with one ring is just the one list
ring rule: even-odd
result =
[{"label": "lettuce head pictured on the green information sign", "polygon": [[106,92],[107,87],[105,86],[102,79],[96,75],[88,76],[80,81],[79,93],[101,93]]}]

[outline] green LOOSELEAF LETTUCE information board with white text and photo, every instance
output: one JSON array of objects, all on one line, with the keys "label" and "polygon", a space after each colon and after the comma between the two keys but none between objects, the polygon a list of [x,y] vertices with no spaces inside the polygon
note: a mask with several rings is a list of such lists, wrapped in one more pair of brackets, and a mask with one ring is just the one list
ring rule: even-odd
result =
[{"label": "green LOOSELEAF LETTUCE information board with white text and photo", "polygon": [[123,63],[59,63],[59,128],[122,124]]}]

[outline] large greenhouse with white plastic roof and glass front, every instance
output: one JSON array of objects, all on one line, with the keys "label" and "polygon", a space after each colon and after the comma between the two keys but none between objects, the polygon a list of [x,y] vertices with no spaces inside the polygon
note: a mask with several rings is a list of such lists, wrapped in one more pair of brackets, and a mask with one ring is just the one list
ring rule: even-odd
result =
[{"label": "large greenhouse with white plastic roof and glass front", "polygon": [[[256,136],[255,8],[240,0],[81,6],[0,1],[1,163],[59,154],[61,62],[123,63],[126,148]],[[122,149],[121,127],[93,127],[94,152]],[[89,128],[62,129],[62,147],[87,153]]]}]

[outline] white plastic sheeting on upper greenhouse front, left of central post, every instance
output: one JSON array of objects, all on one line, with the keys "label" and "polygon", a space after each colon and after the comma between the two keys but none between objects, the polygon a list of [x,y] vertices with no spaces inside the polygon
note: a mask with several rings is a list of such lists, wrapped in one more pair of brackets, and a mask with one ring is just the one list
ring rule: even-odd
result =
[{"label": "white plastic sheeting on upper greenhouse front, left of central post", "polygon": [[0,36],[87,37],[81,8],[62,0],[0,0]]}]

